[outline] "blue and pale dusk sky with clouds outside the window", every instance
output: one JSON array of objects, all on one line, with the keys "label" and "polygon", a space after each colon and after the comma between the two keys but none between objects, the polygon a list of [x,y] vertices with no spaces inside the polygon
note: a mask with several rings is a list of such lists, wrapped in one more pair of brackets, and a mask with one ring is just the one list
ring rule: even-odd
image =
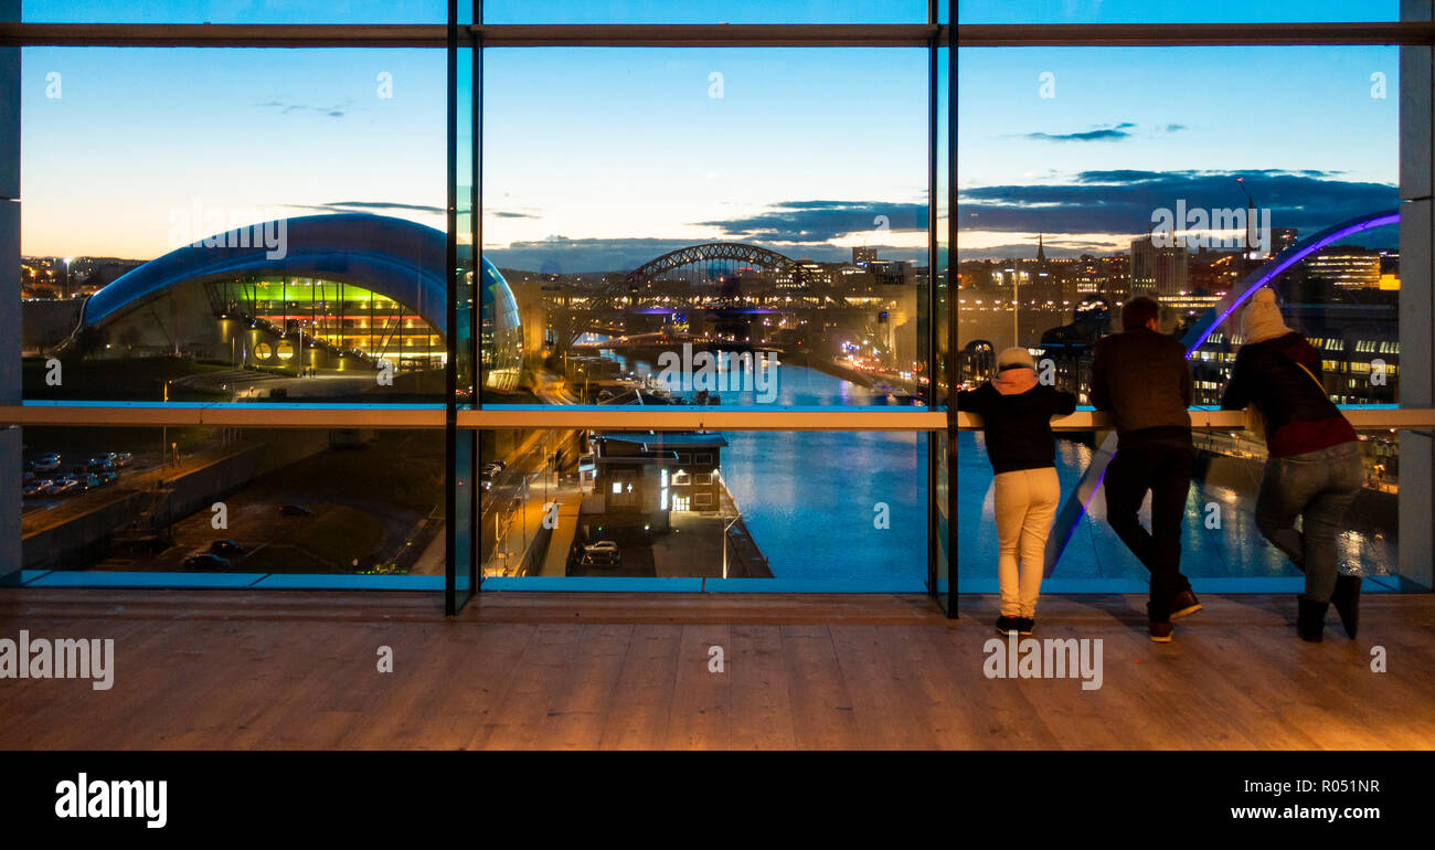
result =
[{"label": "blue and pale dusk sky with clouds outside the window", "polygon": [[[489,3],[486,17],[871,22],[923,10]],[[443,4],[27,1],[23,14],[439,23]],[[963,3],[964,23],[1192,14],[1165,0]],[[1393,1],[1200,6],[1214,20],[1393,16]],[[966,49],[959,69],[963,256],[1030,254],[1039,231],[1053,254],[1106,251],[1178,198],[1243,207],[1236,177],[1277,227],[1303,233],[1395,204],[1393,47]],[[1043,98],[1048,72],[1055,96]],[[924,260],[926,75],[920,49],[489,50],[485,251],[563,271],[630,268],[707,240],[824,260],[872,244]],[[1372,75],[1385,75],[1386,98],[1372,96]],[[442,227],[442,50],[34,47],[22,85],[26,254],[155,257],[197,210],[195,227],[211,211],[373,211]]]}]

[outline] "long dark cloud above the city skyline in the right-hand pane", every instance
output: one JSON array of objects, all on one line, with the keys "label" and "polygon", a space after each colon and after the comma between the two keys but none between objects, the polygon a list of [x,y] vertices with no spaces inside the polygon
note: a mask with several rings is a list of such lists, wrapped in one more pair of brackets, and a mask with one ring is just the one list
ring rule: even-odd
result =
[{"label": "long dark cloud above the city skyline in the right-hand pane", "polygon": [[1175,208],[1241,208],[1244,187],[1274,227],[1312,233],[1395,207],[1396,188],[1337,179],[1326,171],[1082,171],[1062,184],[969,187],[960,192],[960,228],[1049,234],[1145,233],[1151,214]]}]

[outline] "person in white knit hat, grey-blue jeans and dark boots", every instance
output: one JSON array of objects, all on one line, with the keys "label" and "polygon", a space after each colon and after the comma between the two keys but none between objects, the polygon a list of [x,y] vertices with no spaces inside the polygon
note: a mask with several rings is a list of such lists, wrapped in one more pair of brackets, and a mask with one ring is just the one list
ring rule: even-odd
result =
[{"label": "person in white knit hat, grey-blue jeans and dark boots", "polygon": [[1340,574],[1336,537],[1365,481],[1360,444],[1326,393],[1320,353],[1286,326],[1276,293],[1257,290],[1241,322],[1246,343],[1221,408],[1254,406],[1264,426],[1270,459],[1256,498],[1256,527],[1306,574],[1297,600],[1300,638],[1322,639],[1330,603],[1355,638],[1360,579]]}]

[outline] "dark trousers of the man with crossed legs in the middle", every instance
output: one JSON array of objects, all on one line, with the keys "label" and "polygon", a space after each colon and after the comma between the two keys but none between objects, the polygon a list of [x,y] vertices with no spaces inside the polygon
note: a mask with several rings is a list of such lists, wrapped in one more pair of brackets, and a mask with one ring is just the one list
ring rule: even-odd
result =
[{"label": "dark trousers of the man with crossed legs in the middle", "polygon": [[[1195,449],[1172,444],[1138,444],[1119,448],[1106,467],[1106,521],[1131,554],[1151,570],[1152,622],[1171,619],[1171,599],[1191,583],[1181,574],[1181,520],[1191,491]],[[1137,513],[1151,491],[1151,531]]]}]

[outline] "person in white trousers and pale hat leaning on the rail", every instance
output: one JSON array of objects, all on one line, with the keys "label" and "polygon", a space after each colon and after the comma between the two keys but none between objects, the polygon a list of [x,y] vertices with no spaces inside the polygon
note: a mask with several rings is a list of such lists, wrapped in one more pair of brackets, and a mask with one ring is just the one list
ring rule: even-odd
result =
[{"label": "person in white trousers and pale hat leaning on the rail", "polygon": [[957,393],[957,409],[982,415],[996,474],[992,498],[1002,587],[996,630],[1030,635],[1046,569],[1046,536],[1062,497],[1052,416],[1075,411],[1076,396],[1038,380],[1032,353],[1023,347],[1006,349],[996,363],[996,378]]}]

